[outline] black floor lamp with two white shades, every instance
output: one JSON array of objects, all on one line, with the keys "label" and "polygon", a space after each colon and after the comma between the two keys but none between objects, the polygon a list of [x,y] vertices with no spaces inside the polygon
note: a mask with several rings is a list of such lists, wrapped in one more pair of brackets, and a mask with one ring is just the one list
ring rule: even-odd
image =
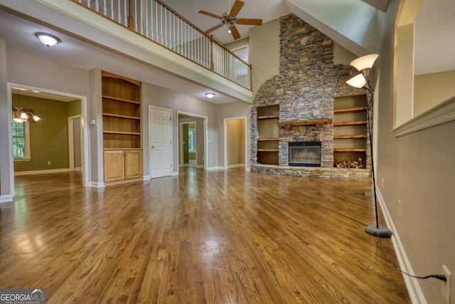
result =
[{"label": "black floor lamp with two white shades", "polygon": [[367,118],[368,118],[368,131],[370,133],[370,150],[371,150],[371,175],[373,177],[373,193],[375,196],[375,214],[376,214],[376,225],[368,226],[365,228],[365,232],[372,236],[379,236],[381,238],[390,238],[392,236],[392,231],[387,229],[387,227],[379,226],[378,220],[378,198],[376,196],[376,181],[375,181],[375,164],[373,162],[373,133],[372,125],[370,119],[370,112],[373,105],[373,89],[368,85],[368,75],[370,74],[371,68],[375,64],[376,59],[378,59],[378,54],[370,54],[362,56],[355,59],[350,63],[354,68],[356,68],[360,74],[350,78],[346,83],[355,88],[364,88],[367,90]]}]

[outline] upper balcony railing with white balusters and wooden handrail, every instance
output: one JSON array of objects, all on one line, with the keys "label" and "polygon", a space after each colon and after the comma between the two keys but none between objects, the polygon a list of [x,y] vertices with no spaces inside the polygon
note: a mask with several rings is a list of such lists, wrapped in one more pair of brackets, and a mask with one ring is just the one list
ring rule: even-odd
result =
[{"label": "upper balcony railing with white balusters and wooden handrail", "polygon": [[251,65],[159,0],[72,0],[251,90]]}]

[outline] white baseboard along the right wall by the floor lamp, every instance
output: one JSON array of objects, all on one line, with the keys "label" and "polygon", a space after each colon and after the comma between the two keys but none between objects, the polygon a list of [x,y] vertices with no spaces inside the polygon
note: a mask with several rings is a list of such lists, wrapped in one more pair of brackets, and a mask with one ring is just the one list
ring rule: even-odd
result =
[{"label": "white baseboard along the right wall by the floor lamp", "polygon": [[[412,271],[412,266],[407,258],[405,248],[403,248],[402,242],[400,240],[400,236],[395,229],[395,224],[393,224],[392,217],[390,216],[389,211],[387,210],[387,206],[385,206],[384,199],[382,198],[382,194],[380,190],[376,188],[376,194],[378,196],[378,202],[380,204],[382,214],[385,218],[385,223],[387,224],[387,228],[392,231],[392,244],[393,248],[395,248],[395,254],[397,255],[398,263],[400,264],[400,268],[402,271],[410,273],[414,275],[414,271]],[[422,293],[422,289],[420,288],[419,281],[417,278],[412,278],[410,276],[406,276],[403,274],[403,278],[405,279],[405,284],[407,287],[407,292],[410,295],[411,302],[414,304],[427,304],[427,300],[425,300],[424,293]]]}]

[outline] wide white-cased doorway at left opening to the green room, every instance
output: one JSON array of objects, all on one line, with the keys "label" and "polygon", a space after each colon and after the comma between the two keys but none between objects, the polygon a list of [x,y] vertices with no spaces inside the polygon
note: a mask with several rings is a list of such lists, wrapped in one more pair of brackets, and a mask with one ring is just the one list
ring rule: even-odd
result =
[{"label": "wide white-cased doorway at left opening to the green room", "polygon": [[[21,103],[21,107],[31,108],[41,117],[38,122],[23,122],[29,130],[28,148],[31,155],[28,159],[14,157],[11,163],[11,193],[14,194],[14,176],[33,175],[42,173],[65,174],[74,171],[70,164],[73,154],[77,157],[77,179],[79,187],[88,187],[88,126],[87,98],[82,95],[63,93],[55,90],[35,88],[27,85],[8,83],[11,93],[11,107]],[[70,124],[70,122],[72,122]],[[11,124],[14,122],[11,121]],[[77,142],[70,145],[69,130],[78,137]],[[18,143],[11,142],[11,147],[17,150]],[[66,152],[65,152],[66,151]]]}]

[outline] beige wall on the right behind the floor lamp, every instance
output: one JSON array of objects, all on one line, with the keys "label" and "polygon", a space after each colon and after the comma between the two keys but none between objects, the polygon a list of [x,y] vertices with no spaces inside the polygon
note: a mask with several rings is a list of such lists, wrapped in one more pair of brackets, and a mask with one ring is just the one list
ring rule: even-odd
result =
[{"label": "beige wall on the right behind the floor lamp", "polygon": [[[400,137],[392,132],[396,90],[393,33],[399,3],[399,0],[389,2],[383,25],[386,34],[378,61],[378,189],[395,225],[393,237],[399,236],[412,271],[419,276],[441,273],[445,264],[454,273],[455,141],[451,138],[455,122]],[[400,73],[413,75],[412,70],[400,70]],[[409,101],[398,98],[396,102],[406,104]],[[373,217],[370,220],[373,222]],[[452,279],[452,297],[454,281]],[[445,303],[441,281],[414,282],[422,289],[427,303]]]}]

